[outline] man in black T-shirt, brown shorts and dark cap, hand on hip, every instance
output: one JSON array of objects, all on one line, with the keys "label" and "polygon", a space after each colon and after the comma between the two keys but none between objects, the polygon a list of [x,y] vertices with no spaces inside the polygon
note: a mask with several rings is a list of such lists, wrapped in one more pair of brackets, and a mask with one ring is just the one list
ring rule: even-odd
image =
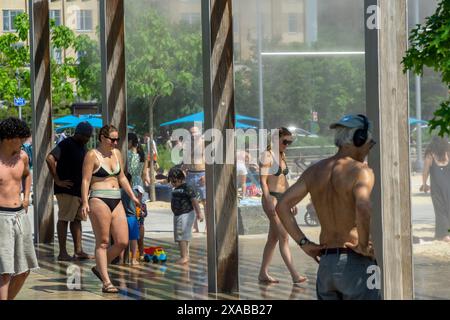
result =
[{"label": "man in black T-shirt, brown shorts and dark cap, hand on hip", "polygon": [[[47,156],[47,166],[55,182],[54,192],[58,202],[58,222],[56,224],[59,243],[58,261],[92,259],[83,251],[81,221],[81,175],[86,155],[86,144],[94,128],[89,122],[81,122],[72,137],[62,140]],[[74,244],[74,256],[67,252],[67,226]]]}]

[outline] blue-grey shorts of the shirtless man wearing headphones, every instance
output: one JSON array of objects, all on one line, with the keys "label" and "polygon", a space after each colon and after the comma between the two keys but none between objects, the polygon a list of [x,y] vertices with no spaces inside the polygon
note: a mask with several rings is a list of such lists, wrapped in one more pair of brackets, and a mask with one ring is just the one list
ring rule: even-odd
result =
[{"label": "blue-grey shorts of the shirtless man wearing headphones", "polygon": [[[376,271],[375,271],[376,270]],[[316,291],[319,300],[380,300],[375,261],[357,254],[328,253],[320,257]]]}]

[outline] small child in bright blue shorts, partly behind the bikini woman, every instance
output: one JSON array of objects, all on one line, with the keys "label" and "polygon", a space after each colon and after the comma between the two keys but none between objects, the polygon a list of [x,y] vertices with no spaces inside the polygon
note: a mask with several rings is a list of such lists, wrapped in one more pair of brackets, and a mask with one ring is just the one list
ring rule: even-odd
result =
[{"label": "small child in bright blue shorts, partly behind the bikini woman", "polygon": [[[131,175],[127,174],[127,178],[129,181],[131,181]],[[134,191],[134,190],[133,190]],[[134,191],[136,196],[138,192]],[[130,241],[130,252],[131,252],[131,262],[130,264],[132,266],[138,265],[139,262],[137,261],[137,243],[139,240],[139,222],[136,217],[136,206],[131,201],[128,194],[122,189],[122,203],[125,208],[125,214],[127,215],[127,222],[128,222],[128,239]],[[125,250],[127,252],[127,250]],[[123,261],[123,253],[121,254],[121,260]]]}]

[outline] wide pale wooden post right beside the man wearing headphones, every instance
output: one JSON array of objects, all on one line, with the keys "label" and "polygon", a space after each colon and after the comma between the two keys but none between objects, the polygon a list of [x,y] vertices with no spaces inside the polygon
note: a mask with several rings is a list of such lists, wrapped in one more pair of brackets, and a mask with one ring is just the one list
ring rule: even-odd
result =
[{"label": "wide pale wooden post right beside the man wearing headphones", "polygon": [[367,114],[379,142],[369,158],[376,177],[372,234],[384,299],[412,299],[408,78],[401,65],[407,0],[365,0],[364,7]]}]

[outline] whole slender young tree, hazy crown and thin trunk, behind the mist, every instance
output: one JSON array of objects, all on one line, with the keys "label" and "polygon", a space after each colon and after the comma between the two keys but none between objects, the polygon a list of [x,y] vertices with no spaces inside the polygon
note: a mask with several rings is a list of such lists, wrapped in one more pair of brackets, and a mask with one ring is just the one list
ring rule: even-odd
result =
[{"label": "whole slender young tree, hazy crown and thin trunk, behind the mist", "polygon": [[[152,139],[157,102],[170,96],[178,85],[192,85],[194,76],[187,70],[197,57],[196,51],[190,49],[197,48],[201,42],[194,35],[174,36],[156,10],[149,9],[143,14],[137,6],[127,13],[126,30],[128,96],[141,101],[141,110],[147,110],[139,116],[148,115]],[[150,170],[153,178],[153,166]],[[155,199],[154,183],[151,183],[151,198]]]}]

